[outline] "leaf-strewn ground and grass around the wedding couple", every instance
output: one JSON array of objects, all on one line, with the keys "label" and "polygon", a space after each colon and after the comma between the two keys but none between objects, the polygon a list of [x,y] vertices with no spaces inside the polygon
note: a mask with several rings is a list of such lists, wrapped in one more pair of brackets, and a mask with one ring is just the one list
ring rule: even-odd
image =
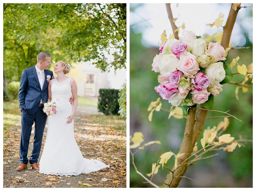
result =
[{"label": "leaf-strewn ground and grass around the wedding couple", "polygon": [[[90,115],[81,111],[75,116],[75,139],[86,158],[101,160],[109,168],[78,176],[55,176],[40,174],[28,169],[16,171],[19,165],[20,112],[17,101],[4,102],[4,187],[126,187],[126,124],[120,116]],[[28,157],[33,146],[30,137]],[[43,145],[47,132],[44,130]],[[40,153],[39,160],[42,152]],[[53,159],[58,162],[58,159]],[[40,165],[40,164],[39,164]],[[68,165],[68,162],[67,162]],[[65,167],[63,167],[65,168]]]}]

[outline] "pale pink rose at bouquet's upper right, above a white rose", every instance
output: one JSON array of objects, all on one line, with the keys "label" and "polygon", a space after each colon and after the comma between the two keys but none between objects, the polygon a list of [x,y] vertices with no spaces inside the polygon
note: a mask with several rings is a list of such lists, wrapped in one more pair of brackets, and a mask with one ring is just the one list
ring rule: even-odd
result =
[{"label": "pale pink rose at bouquet's upper right, above a white rose", "polygon": [[217,62],[219,60],[226,60],[226,52],[225,49],[219,43],[212,43],[208,44],[207,52],[214,56],[214,61]]}]

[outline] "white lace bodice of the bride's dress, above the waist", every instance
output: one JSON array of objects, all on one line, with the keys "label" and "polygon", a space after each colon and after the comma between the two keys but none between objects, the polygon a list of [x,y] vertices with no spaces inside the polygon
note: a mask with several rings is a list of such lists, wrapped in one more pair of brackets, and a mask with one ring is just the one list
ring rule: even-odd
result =
[{"label": "white lace bodice of the bride's dress, above the waist", "polygon": [[71,78],[67,78],[63,82],[57,82],[56,79],[52,80],[52,99],[53,98],[70,98],[71,97]]}]

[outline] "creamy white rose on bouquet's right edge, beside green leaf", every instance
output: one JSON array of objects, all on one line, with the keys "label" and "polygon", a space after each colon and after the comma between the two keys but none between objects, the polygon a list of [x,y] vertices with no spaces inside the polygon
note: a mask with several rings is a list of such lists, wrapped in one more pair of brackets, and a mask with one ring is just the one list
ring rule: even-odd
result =
[{"label": "creamy white rose on bouquet's right edge, beside green leaf", "polygon": [[224,80],[226,72],[223,68],[223,62],[216,62],[206,68],[207,76],[210,77],[212,84],[220,83]]}]

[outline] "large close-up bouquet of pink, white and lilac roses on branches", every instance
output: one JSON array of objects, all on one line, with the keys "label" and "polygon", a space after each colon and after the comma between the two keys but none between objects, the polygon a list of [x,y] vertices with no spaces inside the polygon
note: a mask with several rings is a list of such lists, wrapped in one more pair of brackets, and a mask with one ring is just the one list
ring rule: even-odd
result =
[{"label": "large close-up bouquet of pink, white and lilac roses on branches", "polygon": [[176,107],[203,104],[217,96],[228,69],[222,61],[227,52],[219,43],[197,38],[192,31],[182,35],[162,44],[152,64],[152,70],[160,73],[156,92]]}]

